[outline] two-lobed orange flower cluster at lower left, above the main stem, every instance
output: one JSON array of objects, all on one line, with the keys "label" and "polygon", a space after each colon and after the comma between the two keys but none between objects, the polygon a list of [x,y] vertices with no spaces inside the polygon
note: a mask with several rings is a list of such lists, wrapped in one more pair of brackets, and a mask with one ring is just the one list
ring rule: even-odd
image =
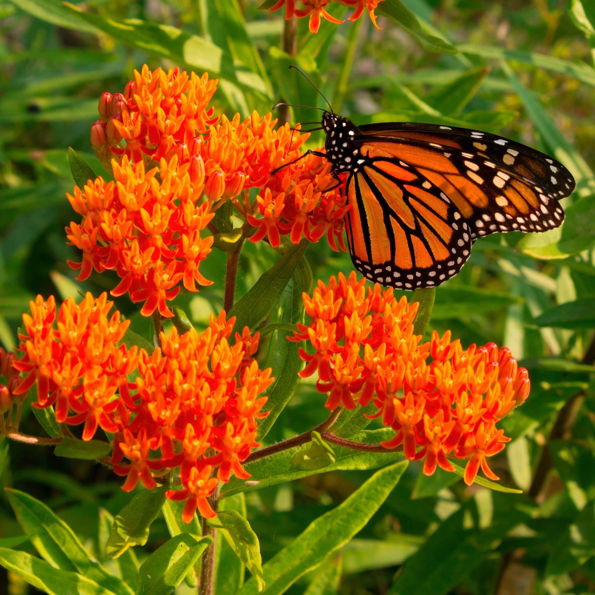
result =
[{"label": "two-lobed orange flower cluster at lower left, above the main stem", "polygon": [[[2,375],[11,378],[16,395],[37,381],[34,406],[54,406],[58,422],[84,423],[83,440],[92,439],[98,427],[114,433],[110,462],[116,474],[127,476],[124,490],[139,480],[154,488],[154,474],[180,467],[183,488],[166,495],[186,500],[184,521],[197,508],[215,516],[207,498],[231,474],[249,477],[242,462],[259,446],[256,419],[267,415],[261,412],[267,398],[260,395],[273,378],[270,368],[261,371],[252,359],[258,333],[250,336],[246,327],[230,345],[235,318],[226,320],[221,312],[211,315],[203,333],[192,328],[180,335],[175,327],[161,333],[162,347],[149,355],[136,346],[116,346],[129,321],[121,321],[120,312],[108,318],[112,304],[105,293],[98,299],[87,293],[80,305],[66,300],[57,314],[54,297],[44,302],[37,296],[31,315],[23,315],[23,356],[2,353]],[[17,371],[27,376],[13,390],[20,382]]]}]

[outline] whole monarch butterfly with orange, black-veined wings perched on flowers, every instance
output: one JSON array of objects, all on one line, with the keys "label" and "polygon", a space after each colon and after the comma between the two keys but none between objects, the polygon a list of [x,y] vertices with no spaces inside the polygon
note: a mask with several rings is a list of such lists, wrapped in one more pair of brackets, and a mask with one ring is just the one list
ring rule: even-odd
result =
[{"label": "whole monarch butterfly with orange, black-veined wings perched on flowers", "polygon": [[334,187],[345,183],[349,252],[369,280],[405,290],[436,287],[461,270],[478,237],[562,224],[558,200],[575,182],[555,159],[452,126],[356,126],[327,104],[330,111],[315,108],[322,120],[314,129],[326,134],[325,152],[306,154],[330,161]]}]

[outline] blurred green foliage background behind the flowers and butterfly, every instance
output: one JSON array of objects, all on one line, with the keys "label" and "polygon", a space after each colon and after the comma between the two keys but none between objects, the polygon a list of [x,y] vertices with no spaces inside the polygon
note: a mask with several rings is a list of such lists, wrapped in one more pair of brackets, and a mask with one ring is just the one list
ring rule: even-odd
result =
[{"label": "blurred green foliage background behind the flowers and butterfly", "polygon": [[[219,76],[215,108],[230,117],[265,114],[281,99],[323,105],[287,71],[295,63],[356,123],[450,123],[519,140],[574,174],[577,190],[563,201],[566,223],[546,234],[480,239],[461,273],[437,290],[430,330],[450,328],[464,346],[507,345],[529,369],[531,395],[502,424],[513,441],[493,460],[501,483],[524,494],[466,488],[444,473],[425,478],[410,465],[372,521],[340,550],[338,590],[324,592],[595,593],[595,3],[405,0],[412,11],[400,20],[405,28],[381,16],[383,29],[376,30],[364,15],[355,24],[323,21],[311,35],[300,20],[296,55],[283,49],[283,11],[258,4],[91,0],[77,15],[53,0],[0,2],[0,343],[17,345],[20,315],[37,293],[98,295],[117,283],[109,272],[79,283],[66,264],[79,259],[65,243],[64,227],[74,218],[65,199],[73,189],[67,149],[109,177],[89,145],[98,98],[122,92],[143,63]],[[341,5],[329,10],[349,14]],[[121,27],[126,19],[135,20]],[[291,118],[312,120],[312,111]],[[321,143],[314,134],[309,146]],[[314,280],[352,270],[349,255],[324,241],[310,246],[307,258]],[[276,259],[268,245],[247,242],[236,299]],[[223,305],[224,262],[214,250],[201,271],[215,283],[176,300],[198,326]],[[151,337],[139,306],[126,297],[115,302],[134,331]],[[322,404],[313,384],[303,382],[267,440],[322,421]],[[23,431],[39,433],[33,415],[25,415]],[[248,493],[263,562],[369,474],[333,472]],[[42,499],[91,548],[98,506],[115,514],[130,498],[107,468],[19,444],[10,445],[1,481]],[[0,495],[0,538],[20,533]],[[158,519],[139,558],[167,536]],[[321,568],[328,572],[331,560]],[[312,578],[289,592],[303,593]],[[0,593],[34,592],[0,569]]]}]

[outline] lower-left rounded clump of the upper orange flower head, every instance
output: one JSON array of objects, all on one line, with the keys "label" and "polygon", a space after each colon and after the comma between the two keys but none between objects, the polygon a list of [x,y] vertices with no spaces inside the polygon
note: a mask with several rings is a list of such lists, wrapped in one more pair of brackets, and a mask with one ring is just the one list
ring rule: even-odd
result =
[{"label": "lower-left rounded clump of the upper orange flower head", "polygon": [[129,162],[124,155],[115,159],[114,182],[99,177],[74,195],[67,195],[80,224],[66,228],[71,245],[83,250],[82,262],[68,261],[80,268],[77,279],[115,270],[121,278],[113,296],[128,292],[133,302],[145,302],[140,313],[150,316],[155,308],[173,316],[166,300],[176,297],[179,282],[191,292],[209,285],[199,272],[200,262],[211,252],[212,236],[201,237],[214,217],[209,203],[199,204],[205,187],[202,161],[180,165],[177,155],[169,162],[161,158],[157,168],[145,171],[145,164]]}]

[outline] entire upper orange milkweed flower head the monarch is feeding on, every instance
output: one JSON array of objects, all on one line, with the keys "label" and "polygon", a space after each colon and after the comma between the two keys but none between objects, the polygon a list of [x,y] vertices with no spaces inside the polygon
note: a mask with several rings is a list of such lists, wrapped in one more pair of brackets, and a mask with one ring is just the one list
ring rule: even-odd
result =
[{"label": "entire upper orange milkweed flower head the monarch is feeding on", "polygon": [[[253,112],[231,120],[209,108],[217,80],[179,68],[134,71],[124,93],[104,93],[100,119],[91,129],[95,153],[114,176],[89,180],[68,194],[82,217],[66,228],[68,242],[82,252],[84,280],[93,269],[114,270],[121,281],[111,295],[128,293],[143,302],[141,314],[173,313],[167,302],[183,285],[195,292],[212,281],[199,270],[211,252],[215,211],[232,201],[250,240],[281,236],[293,243],[322,236],[333,250],[346,250],[346,198],[325,159],[303,155],[308,134]],[[275,174],[271,171],[283,164]],[[258,189],[250,199],[249,190]],[[338,247],[337,247],[338,246]]]}]

